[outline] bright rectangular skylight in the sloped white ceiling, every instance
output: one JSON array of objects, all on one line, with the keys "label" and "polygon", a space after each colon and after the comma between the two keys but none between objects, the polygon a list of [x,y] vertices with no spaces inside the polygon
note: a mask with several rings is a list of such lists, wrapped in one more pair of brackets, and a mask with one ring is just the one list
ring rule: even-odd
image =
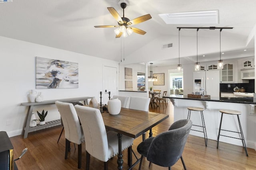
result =
[{"label": "bright rectangular skylight in the sloped white ceiling", "polygon": [[218,10],[158,14],[166,24],[219,23]]}]

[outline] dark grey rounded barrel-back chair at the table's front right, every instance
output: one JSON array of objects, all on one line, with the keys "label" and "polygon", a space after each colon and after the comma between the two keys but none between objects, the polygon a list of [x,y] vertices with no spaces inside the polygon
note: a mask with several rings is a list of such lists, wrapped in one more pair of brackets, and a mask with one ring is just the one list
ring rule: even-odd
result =
[{"label": "dark grey rounded barrel-back chair at the table's front right", "polygon": [[180,158],[186,170],[182,152],[191,126],[192,121],[189,119],[178,120],[170,126],[168,131],[142,141],[137,147],[141,154],[139,170],[142,166],[143,157],[146,157],[150,163],[169,167],[169,170]]}]

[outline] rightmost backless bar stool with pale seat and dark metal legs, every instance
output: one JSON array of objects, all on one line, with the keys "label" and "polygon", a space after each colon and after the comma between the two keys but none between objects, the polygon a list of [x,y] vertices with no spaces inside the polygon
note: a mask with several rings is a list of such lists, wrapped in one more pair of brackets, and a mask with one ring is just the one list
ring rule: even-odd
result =
[{"label": "rightmost backless bar stool with pale seat and dark metal legs", "polygon": [[[231,138],[241,139],[241,140],[242,140],[243,147],[244,147],[244,151],[246,152],[246,156],[248,156],[247,149],[246,149],[246,145],[245,145],[245,141],[244,141],[244,133],[243,133],[243,131],[242,131],[240,119],[239,119],[239,116],[238,116],[238,115],[241,114],[241,112],[240,112],[240,111],[236,111],[236,110],[220,109],[220,113],[221,113],[221,119],[220,119],[220,129],[219,129],[219,134],[218,134],[217,149],[218,149],[218,146],[219,146],[219,139],[220,139],[220,136],[225,136],[225,135],[220,135],[220,130],[222,130],[222,131],[228,131],[228,130],[221,129],[223,113],[225,113],[225,114],[230,114],[230,115],[237,115],[237,119],[238,119],[238,123],[239,123],[240,132],[236,132],[236,131],[228,131],[228,132],[234,132],[234,133],[240,133],[240,134],[241,134],[241,137],[242,137],[242,138],[236,138],[236,137],[231,137]],[[230,137],[230,136],[225,136],[225,137]]]}]

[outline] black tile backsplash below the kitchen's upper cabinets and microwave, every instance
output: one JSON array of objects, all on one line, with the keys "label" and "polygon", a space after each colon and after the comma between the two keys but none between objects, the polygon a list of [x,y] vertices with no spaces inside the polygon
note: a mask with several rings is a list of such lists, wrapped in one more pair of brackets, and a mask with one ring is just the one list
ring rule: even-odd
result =
[{"label": "black tile backsplash below the kitchen's upper cabinets and microwave", "polygon": [[245,92],[254,93],[255,80],[249,80],[249,83],[220,83],[220,92],[234,92],[234,88],[243,87]]}]

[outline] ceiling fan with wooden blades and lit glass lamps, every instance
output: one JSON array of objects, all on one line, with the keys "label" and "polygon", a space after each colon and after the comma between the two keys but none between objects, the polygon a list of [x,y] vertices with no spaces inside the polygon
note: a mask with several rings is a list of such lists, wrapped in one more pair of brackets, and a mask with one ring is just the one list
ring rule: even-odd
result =
[{"label": "ceiling fan with wooden blades and lit glass lamps", "polygon": [[110,14],[116,19],[118,25],[99,25],[94,27],[117,27],[117,29],[114,30],[114,32],[116,33],[116,38],[120,38],[121,36],[127,37],[128,35],[131,35],[132,32],[144,35],[146,33],[145,31],[131,26],[151,19],[152,17],[150,16],[150,14],[140,16],[130,21],[128,18],[124,17],[124,8],[126,8],[126,3],[122,2],[120,6],[123,9],[123,17],[120,17],[118,12],[116,12],[116,10],[113,7],[108,7]]}]

